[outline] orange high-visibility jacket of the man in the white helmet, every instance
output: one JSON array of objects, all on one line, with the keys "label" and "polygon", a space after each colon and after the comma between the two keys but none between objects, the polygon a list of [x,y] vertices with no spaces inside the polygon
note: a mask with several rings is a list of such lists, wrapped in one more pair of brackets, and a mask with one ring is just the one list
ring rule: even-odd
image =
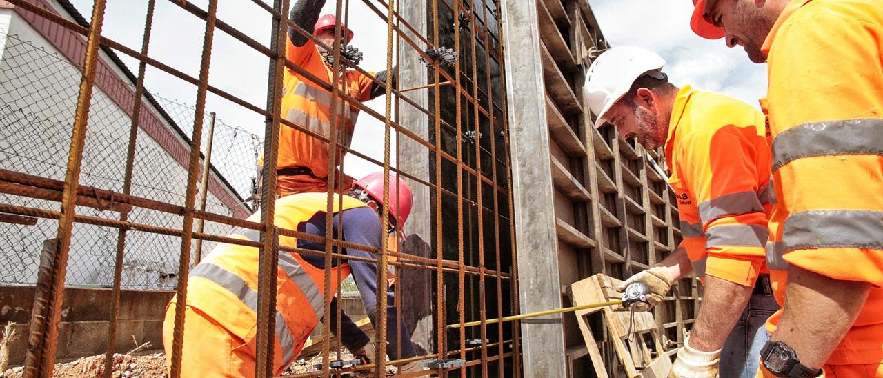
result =
[{"label": "orange high-visibility jacket of the man in the white helmet", "polygon": [[753,286],[766,273],[770,152],[764,115],[725,95],[683,87],[665,143],[681,248],[697,276]]}]

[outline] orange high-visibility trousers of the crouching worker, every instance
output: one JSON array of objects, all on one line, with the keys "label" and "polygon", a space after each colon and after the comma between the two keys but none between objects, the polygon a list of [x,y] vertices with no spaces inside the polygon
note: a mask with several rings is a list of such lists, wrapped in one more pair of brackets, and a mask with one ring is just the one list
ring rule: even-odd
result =
[{"label": "orange high-visibility trousers of the crouching worker", "polygon": [[[199,309],[185,306],[185,329],[182,337],[183,359],[196,359],[199,364],[181,364],[181,376],[188,377],[253,377],[255,356],[245,341],[230,334],[217,321]],[[162,346],[166,352],[166,368],[171,367],[171,345],[175,332],[175,302],[166,309],[162,322]],[[171,375],[171,374],[170,374]]]}]

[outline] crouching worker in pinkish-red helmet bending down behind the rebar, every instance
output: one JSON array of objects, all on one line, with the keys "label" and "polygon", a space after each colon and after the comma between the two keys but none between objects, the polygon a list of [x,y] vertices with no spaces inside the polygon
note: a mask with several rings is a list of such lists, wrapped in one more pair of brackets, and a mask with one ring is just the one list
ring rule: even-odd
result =
[{"label": "crouching worker in pinkish-red helmet bending down behind the rebar", "polygon": [[[355,183],[350,193],[334,194],[334,238],[346,242],[379,248],[381,238],[398,232],[411,213],[411,188],[395,174],[389,176],[389,230],[381,230],[379,216],[384,207],[383,174],[377,172]],[[298,193],[275,201],[275,224],[280,228],[325,236],[325,193]],[[343,201],[343,206],[338,204]],[[260,221],[260,213],[248,218]],[[258,241],[260,233],[247,229],[234,230],[230,238]],[[279,245],[324,251],[323,243],[314,243],[279,235]],[[258,248],[219,244],[192,268],[187,282],[185,307],[185,336],[183,338],[182,375],[247,376],[253,377],[256,363],[256,336],[258,309]],[[374,259],[374,254],[354,248],[335,249],[337,253]],[[273,372],[282,374],[297,357],[307,337],[320,324],[324,314],[324,269],[331,269],[332,287],[337,287],[338,275],[353,276],[368,318],[374,322],[377,311],[377,266],[374,262],[334,260],[325,267],[323,256],[279,252],[275,308],[275,353]],[[338,270],[340,270],[338,272]],[[416,352],[411,336],[399,328],[392,291],[387,300],[387,349],[390,359],[414,357]],[[162,329],[166,359],[171,358],[175,324],[173,298],[166,311]],[[330,314],[336,315],[336,301]],[[343,314],[345,316],[345,314]],[[332,318],[331,332],[336,333],[336,319]],[[374,357],[374,347],[368,336],[342,319],[341,339],[357,359]],[[351,326],[347,326],[350,324]],[[401,331],[401,344],[398,332]],[[401,351],[401,353],[399,353]],[[401,372],[422,369],[418,362],[404,365]]]}]

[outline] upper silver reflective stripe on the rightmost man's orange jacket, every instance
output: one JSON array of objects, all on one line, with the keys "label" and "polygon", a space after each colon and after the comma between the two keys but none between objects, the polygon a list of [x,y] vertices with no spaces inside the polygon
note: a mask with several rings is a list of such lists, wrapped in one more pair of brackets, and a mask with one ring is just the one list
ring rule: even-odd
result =
[{"label": "upper silver reflective stripe on the rightmost man's orange jacket", "polygon": [[773,171],[824,155],[883,155],[883,119],[843,119],[796,125],[773,140]]}]

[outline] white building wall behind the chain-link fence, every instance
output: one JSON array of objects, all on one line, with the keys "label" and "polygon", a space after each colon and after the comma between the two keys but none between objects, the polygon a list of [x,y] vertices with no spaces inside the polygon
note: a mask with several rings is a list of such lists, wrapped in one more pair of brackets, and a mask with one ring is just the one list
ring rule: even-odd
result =
[{"label": "white building wall behind the chain-link fence", "polygon": [[[17,14],[0,11],[0,30],[0,41],[4,42],[0,43],[0,168],[64,180],[81,73]],[[131,119],[98,87],[94,87],[90,109],[80,184],[122,192]],[[183,205],[185,167],[143,131],[138,133],[136,151],[132,194]],[[0,194],[0,202],[60,208],[58,202],[4,194]],[[231,215],[230,208],[214,194],[209,194],[207,210]],[[118,218],[117,213],[94,208],[79,207],[77,211]],[[172,229],[182,224],[180,216],[139,208],[129,219]],[[0,223],[0,284],[34,283],[42,241],[54,238],[56,229],[57,222],[52,220],[40,220],[35,226]],[[229,229],[214,223],[206,226],[207,232],[219,234]],[[66,283],[112,284],[116,244],[116,229],[77,224]],[[203,250],[212,246],[214,243],[206,243]],[[180,238],[130,231],[124,286],[173,289],[176,278],[162,276],[177,273],[179,251]]]}]

